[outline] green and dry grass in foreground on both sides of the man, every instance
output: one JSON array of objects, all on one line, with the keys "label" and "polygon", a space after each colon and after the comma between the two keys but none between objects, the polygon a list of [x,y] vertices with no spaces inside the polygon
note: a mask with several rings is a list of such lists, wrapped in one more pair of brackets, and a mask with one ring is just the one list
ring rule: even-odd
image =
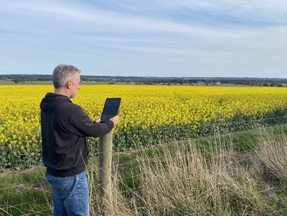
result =
[{"label": "green and dry grass in foreground on both sides of the man", "polygon": [[[112,196],[98,190],[97,158],[88,170],[90,213],[101,215],[284,215],[286,126],[113,156]],[[0,215],[52,215],[44,168],[0,177]]]}]

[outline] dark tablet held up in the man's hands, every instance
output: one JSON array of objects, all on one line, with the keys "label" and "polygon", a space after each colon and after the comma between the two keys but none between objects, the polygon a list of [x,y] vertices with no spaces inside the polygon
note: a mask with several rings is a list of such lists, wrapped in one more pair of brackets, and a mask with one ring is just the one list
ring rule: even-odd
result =
[{"label": "dark tablet held up in the man's hands", "polygon": [[113,116],[118,115],[118,109],[120,108],[120,100],[121,98],[106,98],[106,102],[104,103],[104,109],[102,112],[102,122],[107,122]]}]

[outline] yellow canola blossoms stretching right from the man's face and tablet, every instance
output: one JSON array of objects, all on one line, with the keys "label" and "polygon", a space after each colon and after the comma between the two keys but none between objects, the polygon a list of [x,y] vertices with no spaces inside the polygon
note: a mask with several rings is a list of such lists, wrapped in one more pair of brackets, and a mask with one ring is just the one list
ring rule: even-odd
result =
[{"label": "yellow canola blossoms stretching right from the man's face and tablet", "polygon": [[83,86],[74,102],[91,117],[101,114],[106,97],[122,97],[119,127],[158,128],[253,119],[287,108],[287,88],[198,86]]}]

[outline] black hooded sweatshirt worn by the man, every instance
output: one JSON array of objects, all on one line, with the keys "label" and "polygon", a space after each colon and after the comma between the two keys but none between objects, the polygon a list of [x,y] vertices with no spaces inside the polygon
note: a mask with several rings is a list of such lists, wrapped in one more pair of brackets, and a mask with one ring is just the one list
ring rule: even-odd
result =
[{"label": "black hooded sweatshirt worn by the man", "polygon": [[85,170],[88,150],[85,137],[109,133],[113,121],[92,121],[69,97],[47,93],[40,104],[43,163],[47,173],[58,177]]}]

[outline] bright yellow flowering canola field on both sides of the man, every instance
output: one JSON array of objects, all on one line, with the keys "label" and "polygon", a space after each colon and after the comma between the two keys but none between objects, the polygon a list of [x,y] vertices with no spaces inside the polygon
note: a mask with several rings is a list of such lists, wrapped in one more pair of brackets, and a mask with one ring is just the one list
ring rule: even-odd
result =
[{"label": "bright yellow flowering canola field on both sides of the man", "polygon": [[[10,151],[11,158],[38,154],[39,103],[53,87],[0,86],[0,91],[0,151]],[[287,88],[82,84],[72,101],[96,119],[106,97],[122,97],[115,133],[176,126],[199,132],[199,126],[211,121],[258,119],[283,111],[287,108],[286,96]]]}]

